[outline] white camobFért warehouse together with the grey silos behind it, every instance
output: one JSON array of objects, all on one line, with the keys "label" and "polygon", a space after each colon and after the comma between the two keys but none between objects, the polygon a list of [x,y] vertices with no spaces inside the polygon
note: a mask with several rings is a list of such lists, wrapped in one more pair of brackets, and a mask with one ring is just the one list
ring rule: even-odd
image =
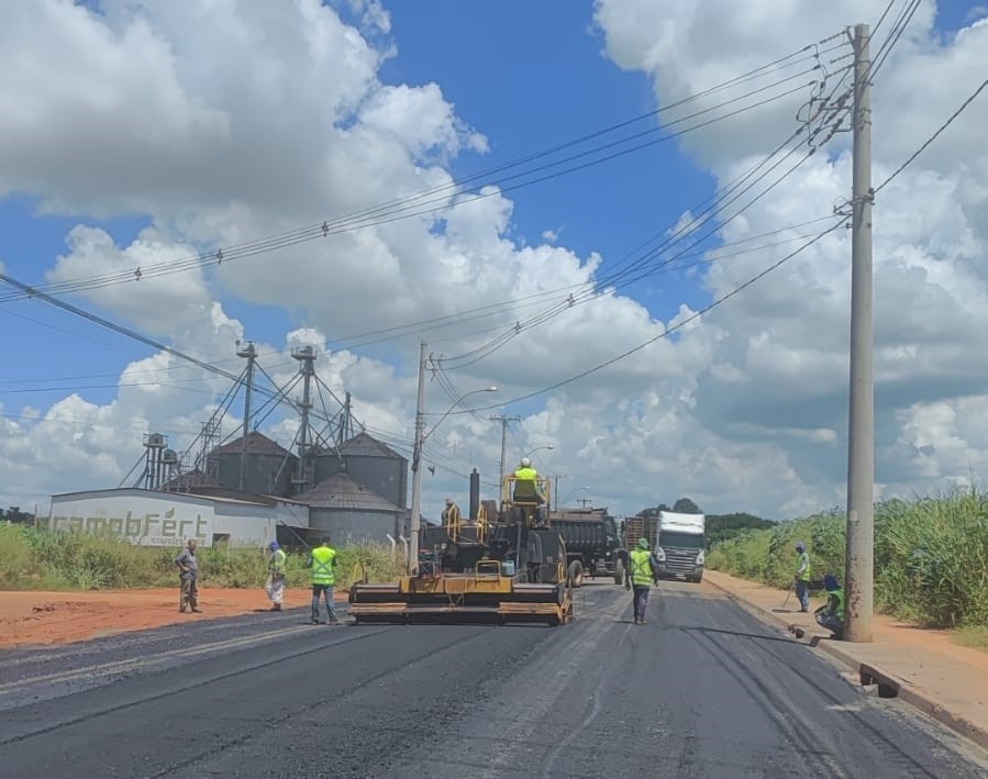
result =
[{"label": "white camobF\u00e9rt warehouse together with the grey silos behind it", "polygon": [[[160,448],[162,436],[146,439]],[[154,456],[169,463],[170,450],[164,452],[164,459]],[[160,472],[152,489],[53,496],[48,525],[109,531],[145,546],[181,546],[189,538],[202,546],[263,547],[325,534],[337,545],[408,537],[408,460],[366,433],[313,453],[306,469],[312,483],[293,478],[296,455],[256,431],[247,435],[246,452],[243,438],[213,448],[204,471]]]}]

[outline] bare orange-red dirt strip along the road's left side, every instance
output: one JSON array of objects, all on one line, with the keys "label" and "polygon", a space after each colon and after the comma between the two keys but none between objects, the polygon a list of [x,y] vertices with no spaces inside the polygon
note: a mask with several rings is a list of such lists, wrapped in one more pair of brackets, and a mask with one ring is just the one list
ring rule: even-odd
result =
[{"label": "bare orange-red dirt strip along the road's left side", "polygon": [[[307,605],[309,589],[285,591],[285,608]],[[336,591],[336,600],[346,592]],[[264,589],[201,588],[201,614],[178,612],[178,587],[87,592],[0,592],[0,647],[67,644],[147,627],[267,611]]]}]

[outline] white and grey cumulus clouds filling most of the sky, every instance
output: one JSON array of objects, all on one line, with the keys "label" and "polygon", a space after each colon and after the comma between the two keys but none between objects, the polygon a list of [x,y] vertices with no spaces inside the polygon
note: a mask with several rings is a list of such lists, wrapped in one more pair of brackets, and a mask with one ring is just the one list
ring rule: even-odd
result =
[{"label": "white and grey cumulus clouds filling most of the sky", "polygon": [[[663,107],[862,19],[874,21],[885,4],[598,0],[593,16],[607,55],[645,74]],[[66,251],[38,276],[47,283],[124,278],[317,225],[313,240],[277,251],[193,263],[79,296],[233,374],[243,367],[235,343],[254,337],[260,365],[278,383],[297,375],[291,346],[312,344],[325,387],[341,398],[349,391],[357,419],[407,456],[420,337],[447,369],[429,377],[430,424],[457,394],[477,388],[497,385],[499,392],[467,404],[559,385],[509,409],[523,418],[511,425],[509,461],[552,443],[534,458],[560,477],[570,502],[586,486],[595,502],[619,512],[681,496],[708,511],[771,516],[842,503],[846,230],[700,316],[693,299],[650,311],[634,287],[607,283],[606,293],[581,303],[615,258],[580,256],[560,243],[558,229],[546,230],[540,245],[513,240],[515,204],[497,189],[460,202],[466,198],[449,187],[451,162],[486,154],[486,129],[459,115],[442,84],[382,82],[382,63],[401,56],[401,31],[387,3],[353,0],[347,8],[352,23],[317,0],[12,5],[0,29],[0,70],[10,86],[0,96],[0,194],[35,197],[45,210],[78,221]],[[876,77],[876,182],[988,67],[988,25],[944,35],[934,21],[935,5],[924,2]],[[832,74],[846,60],[826,62],[834,85],[840,75]],[[695,101],[677,115],[741,91]],[[797,129],[793,116],[807,94],[691,133],[681,148],[724,187]],[[986,120],[988,101],[974,103],[876,199],[882,494],[954,483],[985,466],[978,453],[988,449],[988,369],[972,355],[988,327],[979,261],[988,237]],[[731,294],[825,226],[790,225],[826,218],[847,197],[848,154],[847,136],[839,134],[723,225],[724,242],[777,245],[702,266],[696,272],[702,297]],[[403,200],[422,191],[431,194]],[[401,212],[408,218],[378,224],[357,218],[326,237],[318,230],[324,220],[336,225],[397,201],[414,205]],[[125,243],[91,224],[133,214],[149,218],[151,226]],[[696,240],[695,215],[684,210],[673,234],[679,229]],[[763,234],[771,237],[753,240]],[[252,323],[230,313],[243,303],[284,313],[288,332],[253,336]],[[525,326],[551,307],[552,318]],[[518,337],[509,337],[513,327]],[[675,334],[663,337],[668,329]],[[54,491],[115,485],[140,456],[143,433],[158,430],[176,448],[188,447],[230,388],[227,379],[167,353],[121,366],[118,379],[106,403],[71,389],[47,409],[4,403],[0,500],[25,504]],[[335,401],[325,402],[335,413]],[[470,468],[495,478],[500,429],[488,419],[495,411],[456,409],[428,441],[428,461],[437,466],[424,479],[428,513],[437,513],[445,494],[466,492]],[[227,420],[224,433],[236,424]],[[297,425],[290,414],[275,415],[263,429],[288,445]]]}]

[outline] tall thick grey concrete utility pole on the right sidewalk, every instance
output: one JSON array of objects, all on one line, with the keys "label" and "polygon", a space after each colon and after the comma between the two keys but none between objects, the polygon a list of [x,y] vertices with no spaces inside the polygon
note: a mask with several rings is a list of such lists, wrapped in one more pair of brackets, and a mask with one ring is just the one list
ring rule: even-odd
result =
[{"label": "tall thick grey concrete utility pole on the right sidewalk", "polygon": [[872,368],[872,55],[854,29],[854,168],[851,223],[851,399],[847,431],[846,641],[872,641],[875,379]]}]

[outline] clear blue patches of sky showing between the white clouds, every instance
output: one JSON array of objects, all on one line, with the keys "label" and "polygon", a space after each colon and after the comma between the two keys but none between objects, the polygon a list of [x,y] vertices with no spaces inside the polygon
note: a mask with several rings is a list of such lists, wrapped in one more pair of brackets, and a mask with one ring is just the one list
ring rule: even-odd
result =
[{"label": "clear blue patches of sky showing between the white clouds", "polygon": [[[437,82],[457,114],[489,140],[489,154],[466,151],[453,160],[451,170],[458,177],[654,109],[648,79],[641,73],[622,71],[603,55],[589,2],[396,3],[388,11],[398,55],[384,66],[381,80],[412,86]],[[634,131],[645,126],[636,125]],[[582,258],[600,253],[606,271],[609,261],[662,235],[686,208],[707,198],[711,186],[710,177],[684,159],[675,143],[658,144],[512,191],[512,237],[539,244],[544,231],[555,231],[558,244]],[[149,222],[38,215],[36,207],[27,197],[0,201],[0,258],[12,276],[26,282],[43,280],[44,270],[65,252],[66,233],[79,222],[106,229],[119,245]],[[639,285],[632,293],[660,319],[674,314],[680,302],[698,305],[707,299],[696,283],[676,275]],[[464,301],[464,308],[473,304]],[[224,307],[248,326],[248,337],[277,340],[288,326],[307,324],[293,313],[235,299],[225,299]],[[16,376],[0,379],[0,401],[8,412],[21,404],[45,408],[71,383],[20,383],[24,379],[111,375],[125,361],[149,353],[122,336],[31,301],[7,304],[0,312],[18,333],[15,338],[4,338],[9,364],[19,366]],[[369,354],[395,357],[387,345]],[[11,383],[13,379],[19,383]],[[104,403],[115,390],[96,386],[112,383],[109,377],[80,380],[79,386],[87,389],[79,394]],[[38,387],[57,389],[23,391]]]}]

